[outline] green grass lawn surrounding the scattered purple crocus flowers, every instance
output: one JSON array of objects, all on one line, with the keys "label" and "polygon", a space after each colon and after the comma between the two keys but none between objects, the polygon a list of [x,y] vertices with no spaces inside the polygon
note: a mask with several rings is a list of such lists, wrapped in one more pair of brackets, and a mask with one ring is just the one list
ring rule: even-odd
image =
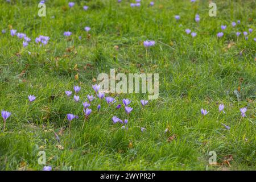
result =
[{"label": "green grass lawn surrounding the scattered purple crocus flowers", "polygon": [[[39,17],[39,1],[1,1],[0,30],[6,34],[0,34],[0,110],[12,115],[5,132],[0,119],[0,169],[42,170],[41,150],[54,170],[205,170],[207,165],[208,170],[256,169],[255,1],[216,1],[217,17],[208,15],[208,1],[161,0],[150,7],[150,1],[142,0],[142,6],[134,8],[131,2],[76,1],[69,9],[68,1],[47,1],[47,16]],[[193,20],[196,13],[199,23]],[[232,21],[238,19],[241,24],[233,28]],[[218,39],[221,24],[228,27]],[[10,26],[32,39],[28,47],[10,36]],[[92,28],[90,38],[85,26]],[[197,36],[185,34],[185,28]],[[237,39],[236,32],[248,28],[254,30],[249,39]],[[65,38],[64,31],[72,36]],[[35,43],[39,35],[51,38],[47,46]],[[143,47],[147,39],[156,41],[148,51]],[[234,45],[228,48],[230,42]],[[93,78],[111,68],[119,73],[159,73],[159,98],[141,109],[139,100],[147,95],[116,97],[119,102],[132,100],[127,131],[112,123],[113,115],[126,118],[123,106],[115,110],[104,102],[97,113],[99,101],[94,100],[82,129],[81,101],[68,99],[64,91],[80,85],[79,96],[85,101],[93,93]],[[241,90],[234,94],[238,86]],[[36,96],[32,104],[29,94]],[[221,103],[226,114],[218,112]],[[248,109],[245,118],[241,107]],[[209,114],[202,117],[201,108]],[[53,131],[68,126],[68,113],[80,118],[72,121],[71,135],[67,129],[57,142]],[[167,128],[170,133],[164,133]],[[176,139],[168,142],[174,134]],[[209,151],[216,151],[218,163],[232,155],[231,167],[210,166]]]}]

